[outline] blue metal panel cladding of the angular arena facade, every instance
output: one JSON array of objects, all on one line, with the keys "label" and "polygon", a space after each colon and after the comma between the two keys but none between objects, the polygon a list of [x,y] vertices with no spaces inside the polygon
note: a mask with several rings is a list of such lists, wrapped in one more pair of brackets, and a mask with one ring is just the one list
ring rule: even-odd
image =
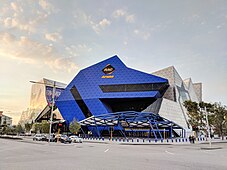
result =
[{"label": "blue metal panel cladding of the angular arena facade", "polygon": [[[108,64],[115,69],[111,74],[105,74],[102,71]],[[112,78],[103,78],[103,76],[112,76]],[[103,93],[99,85],[167,82],[167,79],[128,68],[117,56],[113,56],[81,70],[62,92],[56,101],[56,105],[66,121],[70,122],[74,117],[82,120],[85,118],[85,115],[71,94],[70,89],[73,86],[78,90],[81,100],[85,103],[91,114],[95,116],[112,112],[111,108],[99,99],[155,99],[161,97],[159,91]]]}]

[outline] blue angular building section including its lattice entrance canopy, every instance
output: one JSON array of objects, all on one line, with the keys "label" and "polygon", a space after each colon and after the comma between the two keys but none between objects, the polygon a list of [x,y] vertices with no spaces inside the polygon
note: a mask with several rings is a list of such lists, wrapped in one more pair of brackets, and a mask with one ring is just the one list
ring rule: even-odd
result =
[{"label": "blue angular building section including its lattice entrance canopy", "polygon": [[[128,68],[118,56],[81,70],[56,101],[62,117],[69,124],[80,121],[85,133],[93,136],[137,134],[172,136],[181,128],[158,114],[144,110],[161,98],[169,87],[168,80]],[[141,133],[137,133],[141,132]]]}]

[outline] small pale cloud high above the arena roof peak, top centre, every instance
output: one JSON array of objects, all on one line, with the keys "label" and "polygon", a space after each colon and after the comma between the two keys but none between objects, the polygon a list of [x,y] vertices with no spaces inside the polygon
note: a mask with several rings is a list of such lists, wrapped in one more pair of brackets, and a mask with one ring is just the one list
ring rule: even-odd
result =
[{"label": "small pale cloud high above the arena roof peak, top centre", "polygon": [[127,23],[134,23],[135,22],[135,15],[129,14],[126,10],[117,9],[112,13],[113,18],[124,18]]}]

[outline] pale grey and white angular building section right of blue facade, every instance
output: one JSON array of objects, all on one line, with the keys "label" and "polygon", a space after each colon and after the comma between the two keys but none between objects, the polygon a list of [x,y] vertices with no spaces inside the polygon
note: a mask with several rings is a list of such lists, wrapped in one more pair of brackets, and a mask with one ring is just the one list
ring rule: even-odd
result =
[{"label": "pale grey and white angular building section right of blue facade", "polygon": [[149,106],[146,111],[153,111],[170,119],[190,133],[191,126],[188,122],[188,115],[183,102],[185,100],[201,102],[202,84],[193,83],[191,78],[183,80],[173,66],[152,74],[168,79],[170,86],[163,98]]}]

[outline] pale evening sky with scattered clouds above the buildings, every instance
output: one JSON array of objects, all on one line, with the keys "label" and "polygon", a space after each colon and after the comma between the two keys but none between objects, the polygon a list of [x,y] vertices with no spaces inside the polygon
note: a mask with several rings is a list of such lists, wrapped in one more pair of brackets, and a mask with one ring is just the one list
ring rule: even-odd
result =
[{"label": "pale evening sky with scattered clouds above the buildings", "polygon": [[0,11],[0,110],[14,124],[30,80],[68,84],[113,55],[147,73],[174,66],[227,105],[225,0],[0,0]]}]

